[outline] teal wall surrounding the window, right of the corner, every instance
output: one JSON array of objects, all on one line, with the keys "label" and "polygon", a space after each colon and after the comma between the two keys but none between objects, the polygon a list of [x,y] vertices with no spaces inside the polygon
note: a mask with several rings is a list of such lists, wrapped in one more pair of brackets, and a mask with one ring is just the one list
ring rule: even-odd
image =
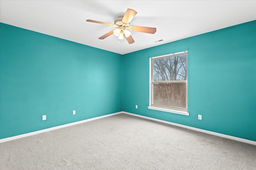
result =
[{"label": "teal wall surrounding the window, right of the corner", "polygon": [[[149,57],[187,49],[190,115],[148,109]],[[123,55],[123,111],[256,141],[256,21]]]}]

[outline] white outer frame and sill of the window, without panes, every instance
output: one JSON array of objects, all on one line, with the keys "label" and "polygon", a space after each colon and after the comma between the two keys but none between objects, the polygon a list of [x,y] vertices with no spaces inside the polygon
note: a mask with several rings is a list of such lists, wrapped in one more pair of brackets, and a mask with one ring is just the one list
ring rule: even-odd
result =
[{"label": "white outer frame and sill of the window, without panes", "polygon": [[[178,109],[178,108],[168,108],[168,107],[155,107],[152,106],[152,59],[157,59],[157,58],[163,58],[163,57],[174,57],[175,55],[182,55],[184,53],[187,53],[187,72],[186,74],[188,75],[188,51],[182,51],[179,53],[173,53],[173,54],[168,54],[168,55],[162,55],[162,56],[157,56],[157,57],[151,57],[149,58],[149,106],[148,109],[153,109],[153,110],[159,110],[159,111],[166,111],[170,113],[177,113],[181,115],[189,115],[188,113],[188,76],[186,80],[186,109]],[[184,80],[182,81],[184,82]]]}]

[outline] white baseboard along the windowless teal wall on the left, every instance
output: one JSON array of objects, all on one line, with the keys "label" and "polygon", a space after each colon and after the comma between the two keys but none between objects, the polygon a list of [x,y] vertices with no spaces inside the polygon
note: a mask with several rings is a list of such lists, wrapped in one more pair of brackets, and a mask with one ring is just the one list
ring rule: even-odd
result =
[{"label": "white baseboard along the windowless teal wall on the left", "polygon": [[104,115],[104,116],[94,117],[94,118],[91,118],[91,119],[86,119],[86,120],[82,120],[82,121],[68,123],[66,125],[60,125],[60,126],[56,126],[56,127],[51,127],[51,128],[48,128],[48,129],[43,129],[43,130],[40,130],[40,131],[34,131],[34,132],[30,132],[30,133],[25,133],[25,134],[17,135],[17,136],[14,136],[14,137],[8,137],[8,138],[0,139],[0,143],[7,142],[7,141],[12,141],[12,140],[15,140],[15,139],[20,139],[22,137],[28,137],[28,136],[36,135],[36,134],[39,134],[39,133],[44,133],[44,132],[52,131],[52,130],[55,130],[55,129],[60,129],[60,128],[63,128],[63,127],[77,125],[77,124],[80,124],[80,123],[84,123],[84,122],[88,122],[88,121],[93,121],[93,120],[96,120],[96,119],[102,119],[104,117],[108,117],[108,116],[112,116],[112,115],[117,115],[117,114],[120,114],[120,113],[123,113],[123,112],[120,111],[120,112],[117,112],[117,113],[112,113],[112,114],[108,114],[108,115]]}]

